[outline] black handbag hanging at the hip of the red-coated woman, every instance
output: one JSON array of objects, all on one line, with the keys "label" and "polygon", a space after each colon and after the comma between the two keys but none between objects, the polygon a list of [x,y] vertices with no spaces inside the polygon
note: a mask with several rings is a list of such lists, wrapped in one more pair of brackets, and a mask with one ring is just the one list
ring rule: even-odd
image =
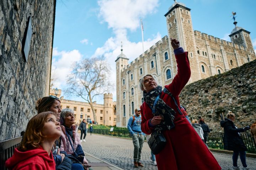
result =
[{"label": "black handbag hanging at the hip of the red-coated woman", "polygon": [[[154,101],[152,109],[153,114],[155,113],[155,105],[159,98],[160,95],[158,95]],[[166,145],[166,139],[164,137],[164,134],[162,134],[161,130],[161,126],[156,126],[148,140],[149,148],[151,149],[154,155],[159,154]]]}]

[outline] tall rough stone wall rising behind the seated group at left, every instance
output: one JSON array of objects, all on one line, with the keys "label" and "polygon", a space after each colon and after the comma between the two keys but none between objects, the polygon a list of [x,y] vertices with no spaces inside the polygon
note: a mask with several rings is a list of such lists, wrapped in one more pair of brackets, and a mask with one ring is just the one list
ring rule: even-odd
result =
[{"label": "tall rough stone wall rising behind the seated group at left", "polygon": [[[0,1],[0,141],[20,136],[35,114],[35,101],[49,95],[55,1]],[[28,61],[22,42],[28,17]]]}]

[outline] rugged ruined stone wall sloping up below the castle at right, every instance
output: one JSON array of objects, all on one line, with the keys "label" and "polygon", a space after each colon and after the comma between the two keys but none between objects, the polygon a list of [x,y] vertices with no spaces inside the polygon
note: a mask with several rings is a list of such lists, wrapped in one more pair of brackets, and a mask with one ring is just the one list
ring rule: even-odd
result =
[{"label": "rugged ruined stone wall sloping up below the castle at right", "polygon": [[222,131],[220,113],[232,111],[238,127],[256,120],[256,60],[229,72],[196,81],[184,87],[180,103],[190,118],[204,118],[210,129]]}]

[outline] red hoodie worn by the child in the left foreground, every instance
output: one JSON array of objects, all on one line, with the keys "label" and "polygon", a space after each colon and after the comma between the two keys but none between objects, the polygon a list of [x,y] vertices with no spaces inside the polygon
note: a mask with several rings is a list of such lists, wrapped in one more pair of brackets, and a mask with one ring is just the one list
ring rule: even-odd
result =
[{"label": "red hoodie worn by the child in the left foreground", "polygon": [[14,150],[14,155],[5,162],[9,170],[55,170],[55,162],[52,152],[50,156],[42,148],[25,152]]}]

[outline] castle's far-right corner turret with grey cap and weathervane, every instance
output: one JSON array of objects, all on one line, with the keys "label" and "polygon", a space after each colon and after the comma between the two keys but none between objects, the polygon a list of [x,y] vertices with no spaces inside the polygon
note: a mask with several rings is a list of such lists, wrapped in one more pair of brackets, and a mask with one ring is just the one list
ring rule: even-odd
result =
[{"label": "castle's far-right corner turret with grey cap and weathervane", "polygon": [[[247,53],[247,60],[248,62],[250,62],[252,61],[252,58],[253,58],[252,56],[255,56],[250,32],[245,30],[242,27],[236,26],[237,22],[235,21],[235,17],[233,18],[234,18],[235,28],[232,30],[231,34],[229,35],[231,42],[240,46],[244,46],[245,48],[247,48],[247,50],[250,51],[251,54]],[[237,62],[239,63],[239,66],[241,66],[241,62],[239,61]]]}]

